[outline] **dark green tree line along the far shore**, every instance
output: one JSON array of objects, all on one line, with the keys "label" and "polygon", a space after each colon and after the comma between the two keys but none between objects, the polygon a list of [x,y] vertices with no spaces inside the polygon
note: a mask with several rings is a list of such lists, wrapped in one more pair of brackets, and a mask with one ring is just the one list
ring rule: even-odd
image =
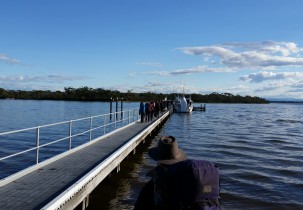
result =
[{"label": "dark green tree line along the far shore", "polygon": [[[126,93],[117,90],[107,90],[103,88],[90,87],[65,87],[64,91],[50,90],[5,90],[0,88],[0,99],[34,99],[34,100],[72,100],[72,101],[109,101],[110,98],[124,101],[156,101],[174,100],[179,93],[134,93],[127,91]],[[267,100],[256,96],[240,96],[230,93],[211,93],[211,94],[191,94],[194,102],[200,103],[268,103]]]}]

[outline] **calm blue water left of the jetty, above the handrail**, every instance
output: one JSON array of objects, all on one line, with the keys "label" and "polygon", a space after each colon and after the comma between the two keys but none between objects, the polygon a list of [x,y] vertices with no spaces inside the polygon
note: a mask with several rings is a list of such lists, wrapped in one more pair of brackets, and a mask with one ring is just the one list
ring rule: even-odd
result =
[{"label": "calm blue water left of the jetty, above the handrail", "polygon": [[[118,103],[118,111],[121,104]],[[137,103],[123,102],[123,109],[139,108]],[[0,100],[0,132],[19,130],[65,120],[73,120],[90,115],[110,112],[107,102],[77,101],[37,101],[37,100]],[[113,112],[116,103],[113,103]]]}]

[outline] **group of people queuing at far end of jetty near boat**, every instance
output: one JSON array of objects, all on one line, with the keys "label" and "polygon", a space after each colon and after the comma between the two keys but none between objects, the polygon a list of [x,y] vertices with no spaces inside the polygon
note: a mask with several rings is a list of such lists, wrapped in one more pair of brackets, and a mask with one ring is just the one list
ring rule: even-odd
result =
[{"label": "group of people queuing at far end of jetty near boat", "polygon": [[139,114],[141,116],[141,122],[149,122],[154,117],[159,117],[160,112],[162,113],[167,108],[166,101],[150,101],[140,103]]}]

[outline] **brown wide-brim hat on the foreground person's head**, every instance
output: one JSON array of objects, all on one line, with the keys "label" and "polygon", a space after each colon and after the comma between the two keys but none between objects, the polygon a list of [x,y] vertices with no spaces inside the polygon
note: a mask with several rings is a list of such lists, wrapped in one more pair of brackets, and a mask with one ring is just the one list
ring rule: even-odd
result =
[{"label": "brown wide-brim hat on the foreground person's head", "polygon": [[148,150],[148,155],[162,164],[174,164],[186,160],[185,152],[179,149],[177,140],[173,136],[161,137],[158,146]]}]

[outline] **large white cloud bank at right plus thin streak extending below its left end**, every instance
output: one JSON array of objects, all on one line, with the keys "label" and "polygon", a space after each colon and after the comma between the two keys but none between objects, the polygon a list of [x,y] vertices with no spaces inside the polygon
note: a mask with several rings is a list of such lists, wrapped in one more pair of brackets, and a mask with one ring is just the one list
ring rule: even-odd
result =
[{"label": "large white cloud bank at right plus thin streak extending below its left end", "polygon": [[280,67],[303,66],[303,48],[294,42],[232,42],[210,46],[183,47],[177,50],[201,56],[205,64],[169,71],[150,71],[158,76],[197,74],[206,72],[230,73],[241,70],[276,70]]}]

